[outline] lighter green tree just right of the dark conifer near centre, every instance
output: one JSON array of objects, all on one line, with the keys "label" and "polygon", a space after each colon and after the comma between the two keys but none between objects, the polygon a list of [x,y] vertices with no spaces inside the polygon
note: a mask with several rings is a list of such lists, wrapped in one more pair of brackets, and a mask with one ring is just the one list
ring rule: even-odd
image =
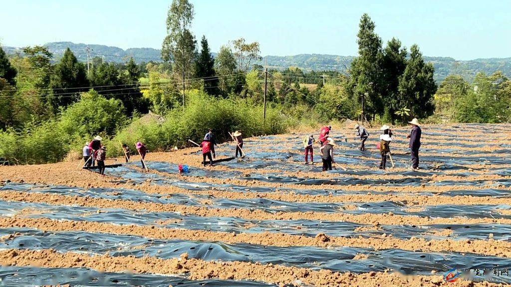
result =
[{"label": "lighter green tree just right of the dark conifer near centre", "polygon": [[228,46],[221,46],[215,59],[215,71],[219,77],[220,90],[224,94],[229,94],[236,88],[236,77],[233,76],[236,72],[236,66],[233,51]]}]

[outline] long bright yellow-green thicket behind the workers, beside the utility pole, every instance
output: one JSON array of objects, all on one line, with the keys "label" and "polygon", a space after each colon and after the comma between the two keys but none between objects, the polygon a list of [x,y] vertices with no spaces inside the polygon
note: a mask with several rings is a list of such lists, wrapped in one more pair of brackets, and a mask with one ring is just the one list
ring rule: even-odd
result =
[{"label": "long bright yellow-green thicket behind the workers, beside the utility pole", "polygon": [[166,121],[135,121],[107,142],[109,155],[122,155],[121,142],[135,151],[135,142],[142,141],[149,150],[166,151],[174,146],[190,146],[188,139],[202,141],[208,128],[214,129],[217,141],[230,139],[228,132],[241,131],[245,137],[286,131],[287,123],[280,110],[268,106],[263,129],[263,106],[250,100],[214,98],[200,90],[187,95],[187,107],[175,108],[165,115]]}]

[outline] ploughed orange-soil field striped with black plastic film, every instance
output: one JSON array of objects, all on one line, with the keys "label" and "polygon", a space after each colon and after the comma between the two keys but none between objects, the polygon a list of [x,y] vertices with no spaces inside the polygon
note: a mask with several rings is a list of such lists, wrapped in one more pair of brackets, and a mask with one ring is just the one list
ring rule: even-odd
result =
[{"label": "ploughed orange-soil field striped with black plastic film", "polygon": [[[244,159],[206,168],[198,148],[149,153],[148,172],[132,156],[106,176],[78,161],[0,166],[0,278],[438,286],[451,269],[511,268],[511,125],[422,129],[419,171],[410,170],[408,128],[393,130],[396,166],[382,171],[379,130],[368,129],[368,150],[359,151],[353,129],[340,126],[331,133],[338,168],[326,173],[318,146],[315,163],[304,164],[311,131],[245,138]],[[234,156],[234,143],[216,150]],[[472,284],[496,285],[449,283]]]}]

